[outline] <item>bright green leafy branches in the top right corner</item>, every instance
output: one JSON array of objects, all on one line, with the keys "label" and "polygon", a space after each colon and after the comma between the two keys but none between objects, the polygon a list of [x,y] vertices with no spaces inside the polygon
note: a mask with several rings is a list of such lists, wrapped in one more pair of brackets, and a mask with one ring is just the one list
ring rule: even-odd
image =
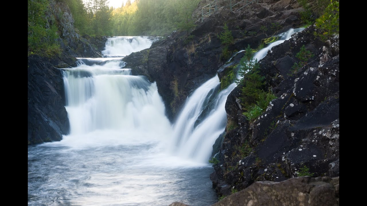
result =
[{"label": "bright green leafy branches in the top right corner", "polygon": [[330,0],[323,15],[316,19],[316,27],[320,32],[315,32],[315,36],[326,41],[333,34],[339,34],[339,1]]}]

